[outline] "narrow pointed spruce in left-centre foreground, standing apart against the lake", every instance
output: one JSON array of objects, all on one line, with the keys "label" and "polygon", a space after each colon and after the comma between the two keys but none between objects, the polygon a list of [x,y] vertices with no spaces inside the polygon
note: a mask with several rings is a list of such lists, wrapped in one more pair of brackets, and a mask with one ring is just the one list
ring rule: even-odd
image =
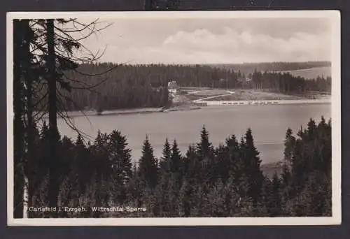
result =
[{"label": "narrow pointed spruce in left-centre foreground, standing apart against the lake", "polygon": [[139,160],[139,175],[149,187],[155,187],[158,179],[158,164],[153,154],[153,148],[146,136],[142,146],[142,156]]}]

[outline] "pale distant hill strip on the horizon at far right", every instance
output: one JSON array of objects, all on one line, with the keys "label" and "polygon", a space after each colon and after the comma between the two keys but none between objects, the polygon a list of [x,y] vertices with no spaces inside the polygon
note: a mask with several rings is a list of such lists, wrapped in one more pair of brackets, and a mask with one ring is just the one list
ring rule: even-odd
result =
[{"label": "pale distant hill strip on the horizon at far right", "polygon": [[330,67],[330,61],[305,61],[305,62],[262,62],[243,64],[207,64],[213,68],[224,68],[241,73],[252,73],[255,71],[297,71],[309,68]]}]

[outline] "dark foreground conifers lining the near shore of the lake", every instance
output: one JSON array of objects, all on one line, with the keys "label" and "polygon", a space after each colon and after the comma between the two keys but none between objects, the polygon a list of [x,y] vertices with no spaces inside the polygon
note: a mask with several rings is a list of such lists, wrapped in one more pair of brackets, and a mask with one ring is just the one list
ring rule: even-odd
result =
[{"label": "dark foreground conifers lining the near shore of the lake", "polygon": [[[36,131],[35,157],[27,165],[29,208],[48,205],[48,126]],[[331,126],[310,119],[297,136],[286,132],[283,173],[263,175],[251,129],[214,147],[203,126],[200,142],[185,155],[165,141],[155,158],[151,139],[132,164],[119,131],[98,133],[93,143],[59,140],[58,206],[73,212],[29,212],[29,217],[302,217],[331,216]],[[123,212],[92,210],[124,207]],[[128,212],[126,207],[146,208]]]}]

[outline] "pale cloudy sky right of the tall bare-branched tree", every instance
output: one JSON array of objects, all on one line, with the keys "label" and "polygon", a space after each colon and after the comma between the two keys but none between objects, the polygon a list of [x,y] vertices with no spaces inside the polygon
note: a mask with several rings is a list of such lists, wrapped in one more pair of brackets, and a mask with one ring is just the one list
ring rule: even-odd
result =
[{"label": "pale cloudy sky right of the tall bare-branched tree", "polygon": [[[89,22],[89,20],[84,20]],[[92,21],[92,20],[91,20]],[[330,61],[329,18],[100,19],[83,41],[99,61],[120,64],[235,64]]]}]

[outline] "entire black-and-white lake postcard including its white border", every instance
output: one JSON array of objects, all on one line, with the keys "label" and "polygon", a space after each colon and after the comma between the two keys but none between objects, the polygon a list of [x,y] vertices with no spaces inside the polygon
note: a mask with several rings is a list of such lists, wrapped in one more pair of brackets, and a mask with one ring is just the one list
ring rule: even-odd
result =
[{"label": "entire black-and-white lake postcard including its white border", "polygon": [[339,12],[7,28],[8,225],[340,224]]}]

